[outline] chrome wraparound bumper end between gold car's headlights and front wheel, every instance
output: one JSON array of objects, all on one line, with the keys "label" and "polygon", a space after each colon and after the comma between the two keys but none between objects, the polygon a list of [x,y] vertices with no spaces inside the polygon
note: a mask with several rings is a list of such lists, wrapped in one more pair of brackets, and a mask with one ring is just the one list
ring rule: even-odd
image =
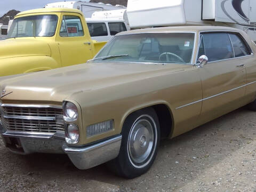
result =
[{"label": "chrome wraparound bumper end between gold car's headlights and front wheel", "polygon": [[78,169],[84,170],[116,158],[121,141],[122,135],[118,135],[87,147],[69,147],[65,143],[62,149]]}]

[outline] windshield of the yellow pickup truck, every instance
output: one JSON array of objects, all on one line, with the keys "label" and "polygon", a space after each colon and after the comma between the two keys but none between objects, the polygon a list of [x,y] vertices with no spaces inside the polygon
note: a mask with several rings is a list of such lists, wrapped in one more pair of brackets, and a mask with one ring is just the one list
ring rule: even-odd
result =
[{"label": "windshield of the yellow pickup truck", "polygon": [[14,19],[7,38],[51,37],[55,34],[57,21],[56,15],[35,15]]}]

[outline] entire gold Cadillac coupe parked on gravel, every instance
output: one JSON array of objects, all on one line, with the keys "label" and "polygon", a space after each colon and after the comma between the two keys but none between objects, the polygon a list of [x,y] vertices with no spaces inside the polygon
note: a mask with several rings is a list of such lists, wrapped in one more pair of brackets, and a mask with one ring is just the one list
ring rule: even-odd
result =
[{"label": "entire gold Cadillac coupe parked on gravel", "polygon": [[88,63],[2,81],[0,132],[14,153],[65,153],[78,169],[108,162],[134,178],[161,138],[256,110],[255,52],[233,28],[126,31]]}]

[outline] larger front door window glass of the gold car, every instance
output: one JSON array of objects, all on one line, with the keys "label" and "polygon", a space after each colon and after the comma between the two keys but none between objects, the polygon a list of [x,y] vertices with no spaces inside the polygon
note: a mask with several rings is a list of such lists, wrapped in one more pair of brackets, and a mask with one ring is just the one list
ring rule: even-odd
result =
[{"label": "larger front door window glass of the gold car", "polygon": [[205,55],[210,61],[234,58],[229,36],[226,33],[203,34]]}]

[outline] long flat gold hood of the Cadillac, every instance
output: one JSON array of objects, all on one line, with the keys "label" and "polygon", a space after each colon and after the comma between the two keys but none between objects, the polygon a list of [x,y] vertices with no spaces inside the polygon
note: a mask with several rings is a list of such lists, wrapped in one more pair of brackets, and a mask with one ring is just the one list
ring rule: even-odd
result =
[{"label": "long flat gold hood of the Cadillac", "polygon": [[81,92],[106,89],[181,70],[184,66],[171,64],[85,63],[5,79],[0,86],[7,95],[1,100],[62,102]]}]

